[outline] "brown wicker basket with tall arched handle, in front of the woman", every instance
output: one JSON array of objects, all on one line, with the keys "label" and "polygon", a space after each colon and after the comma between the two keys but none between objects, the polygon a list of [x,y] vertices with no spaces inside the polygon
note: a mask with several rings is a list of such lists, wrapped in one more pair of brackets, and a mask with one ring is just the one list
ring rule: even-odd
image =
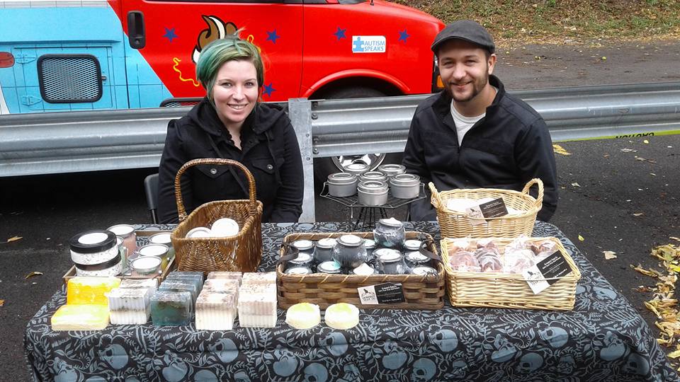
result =
[{"label": "brown wicker basket with tall arched handle, in front of the woman", "polygon": [[[208,202],[186,216],[182,200],[180,179],[193,166],[227,165],[242,170],[249,183],[249,199]],[[170,236],[175,248],[177,270],[255,272],[262,258],[262,203],[255,199],[255,179],[250,171],[237,161],[203,158],[188,161],[175,177],[175,198],[179,225]],[[217,219],[227,217],[239,224],[239,233],[226,238],[186,238],[186,233],[196,227],[208,227]]]}]

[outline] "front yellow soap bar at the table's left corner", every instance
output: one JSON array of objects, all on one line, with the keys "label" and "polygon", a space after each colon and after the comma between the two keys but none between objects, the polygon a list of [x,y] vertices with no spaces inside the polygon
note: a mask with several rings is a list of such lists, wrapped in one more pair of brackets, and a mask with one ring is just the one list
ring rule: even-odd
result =
[{"label": "front yellow soap bar at the table's left corner", "polygon": [[64,305],[52,316],[52,330],[102,330],[108,326],[108,307]]}]

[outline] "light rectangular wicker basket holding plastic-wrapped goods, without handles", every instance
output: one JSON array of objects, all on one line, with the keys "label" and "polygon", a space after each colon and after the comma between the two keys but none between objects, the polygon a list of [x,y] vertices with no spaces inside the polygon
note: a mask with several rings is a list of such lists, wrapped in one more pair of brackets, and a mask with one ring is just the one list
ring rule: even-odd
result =
[{"label": "light rectangular wicker basket holding plastic-wrapped goods, without handles", "polygon": [[[493,240],[499,248],[504,248],[514,239],[493,238]],[[451,305],[571,311],[576,299],[576,283],[581,279],[579,268],[559,239],[549,237],[530,240],[555,242],[555,248],[565,256],[567,264],[572,269],[570,274],[550,285],[540,294],[533,294],[521,274],[454,271],[449,265],[448,257],[448,245],[453,243],[453,240],[443,239],[441,252],[446,268],[446,284],[448,284],[448,298]]]}]

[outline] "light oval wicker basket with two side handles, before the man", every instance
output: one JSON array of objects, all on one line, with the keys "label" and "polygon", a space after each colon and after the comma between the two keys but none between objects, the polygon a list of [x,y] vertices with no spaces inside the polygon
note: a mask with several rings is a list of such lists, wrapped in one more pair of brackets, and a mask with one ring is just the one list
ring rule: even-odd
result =
[{"label": "light oval wicker basket with two side handles, before the man", "polygon": [[[538,197],[534,199],[529,195],[529,189],[538,185]],[[522,192],[515,190],[501,190],[498,188],[475,188],[458,189],[438,192],[437,188],[429,183],[432,192],[431,203],[437,210],[437,219],[441,228],[442,238],[516,238],[521,234],[531,236],[533,224],[536,223],[536,214],[543,204],[543,182],[540,179],[529,180]],[[465,212],[448,209],[446,203],[449,199],[483,199],[491,197],[503,198],[507,207],[512,207],[521,214],[506,215],[486,219],[486,223],[472,224],[474,220]]]}]

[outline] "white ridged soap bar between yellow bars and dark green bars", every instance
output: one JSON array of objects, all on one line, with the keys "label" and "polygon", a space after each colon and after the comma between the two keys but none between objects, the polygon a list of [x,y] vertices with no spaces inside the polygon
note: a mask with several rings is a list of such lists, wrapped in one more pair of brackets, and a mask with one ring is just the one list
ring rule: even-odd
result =
[{"label": "white ridged soap bar between yellow bars and dark green bars", "polygon": [[145,324],[149,320],[149,289],[115,288],[108,293],[113,325]]}]

